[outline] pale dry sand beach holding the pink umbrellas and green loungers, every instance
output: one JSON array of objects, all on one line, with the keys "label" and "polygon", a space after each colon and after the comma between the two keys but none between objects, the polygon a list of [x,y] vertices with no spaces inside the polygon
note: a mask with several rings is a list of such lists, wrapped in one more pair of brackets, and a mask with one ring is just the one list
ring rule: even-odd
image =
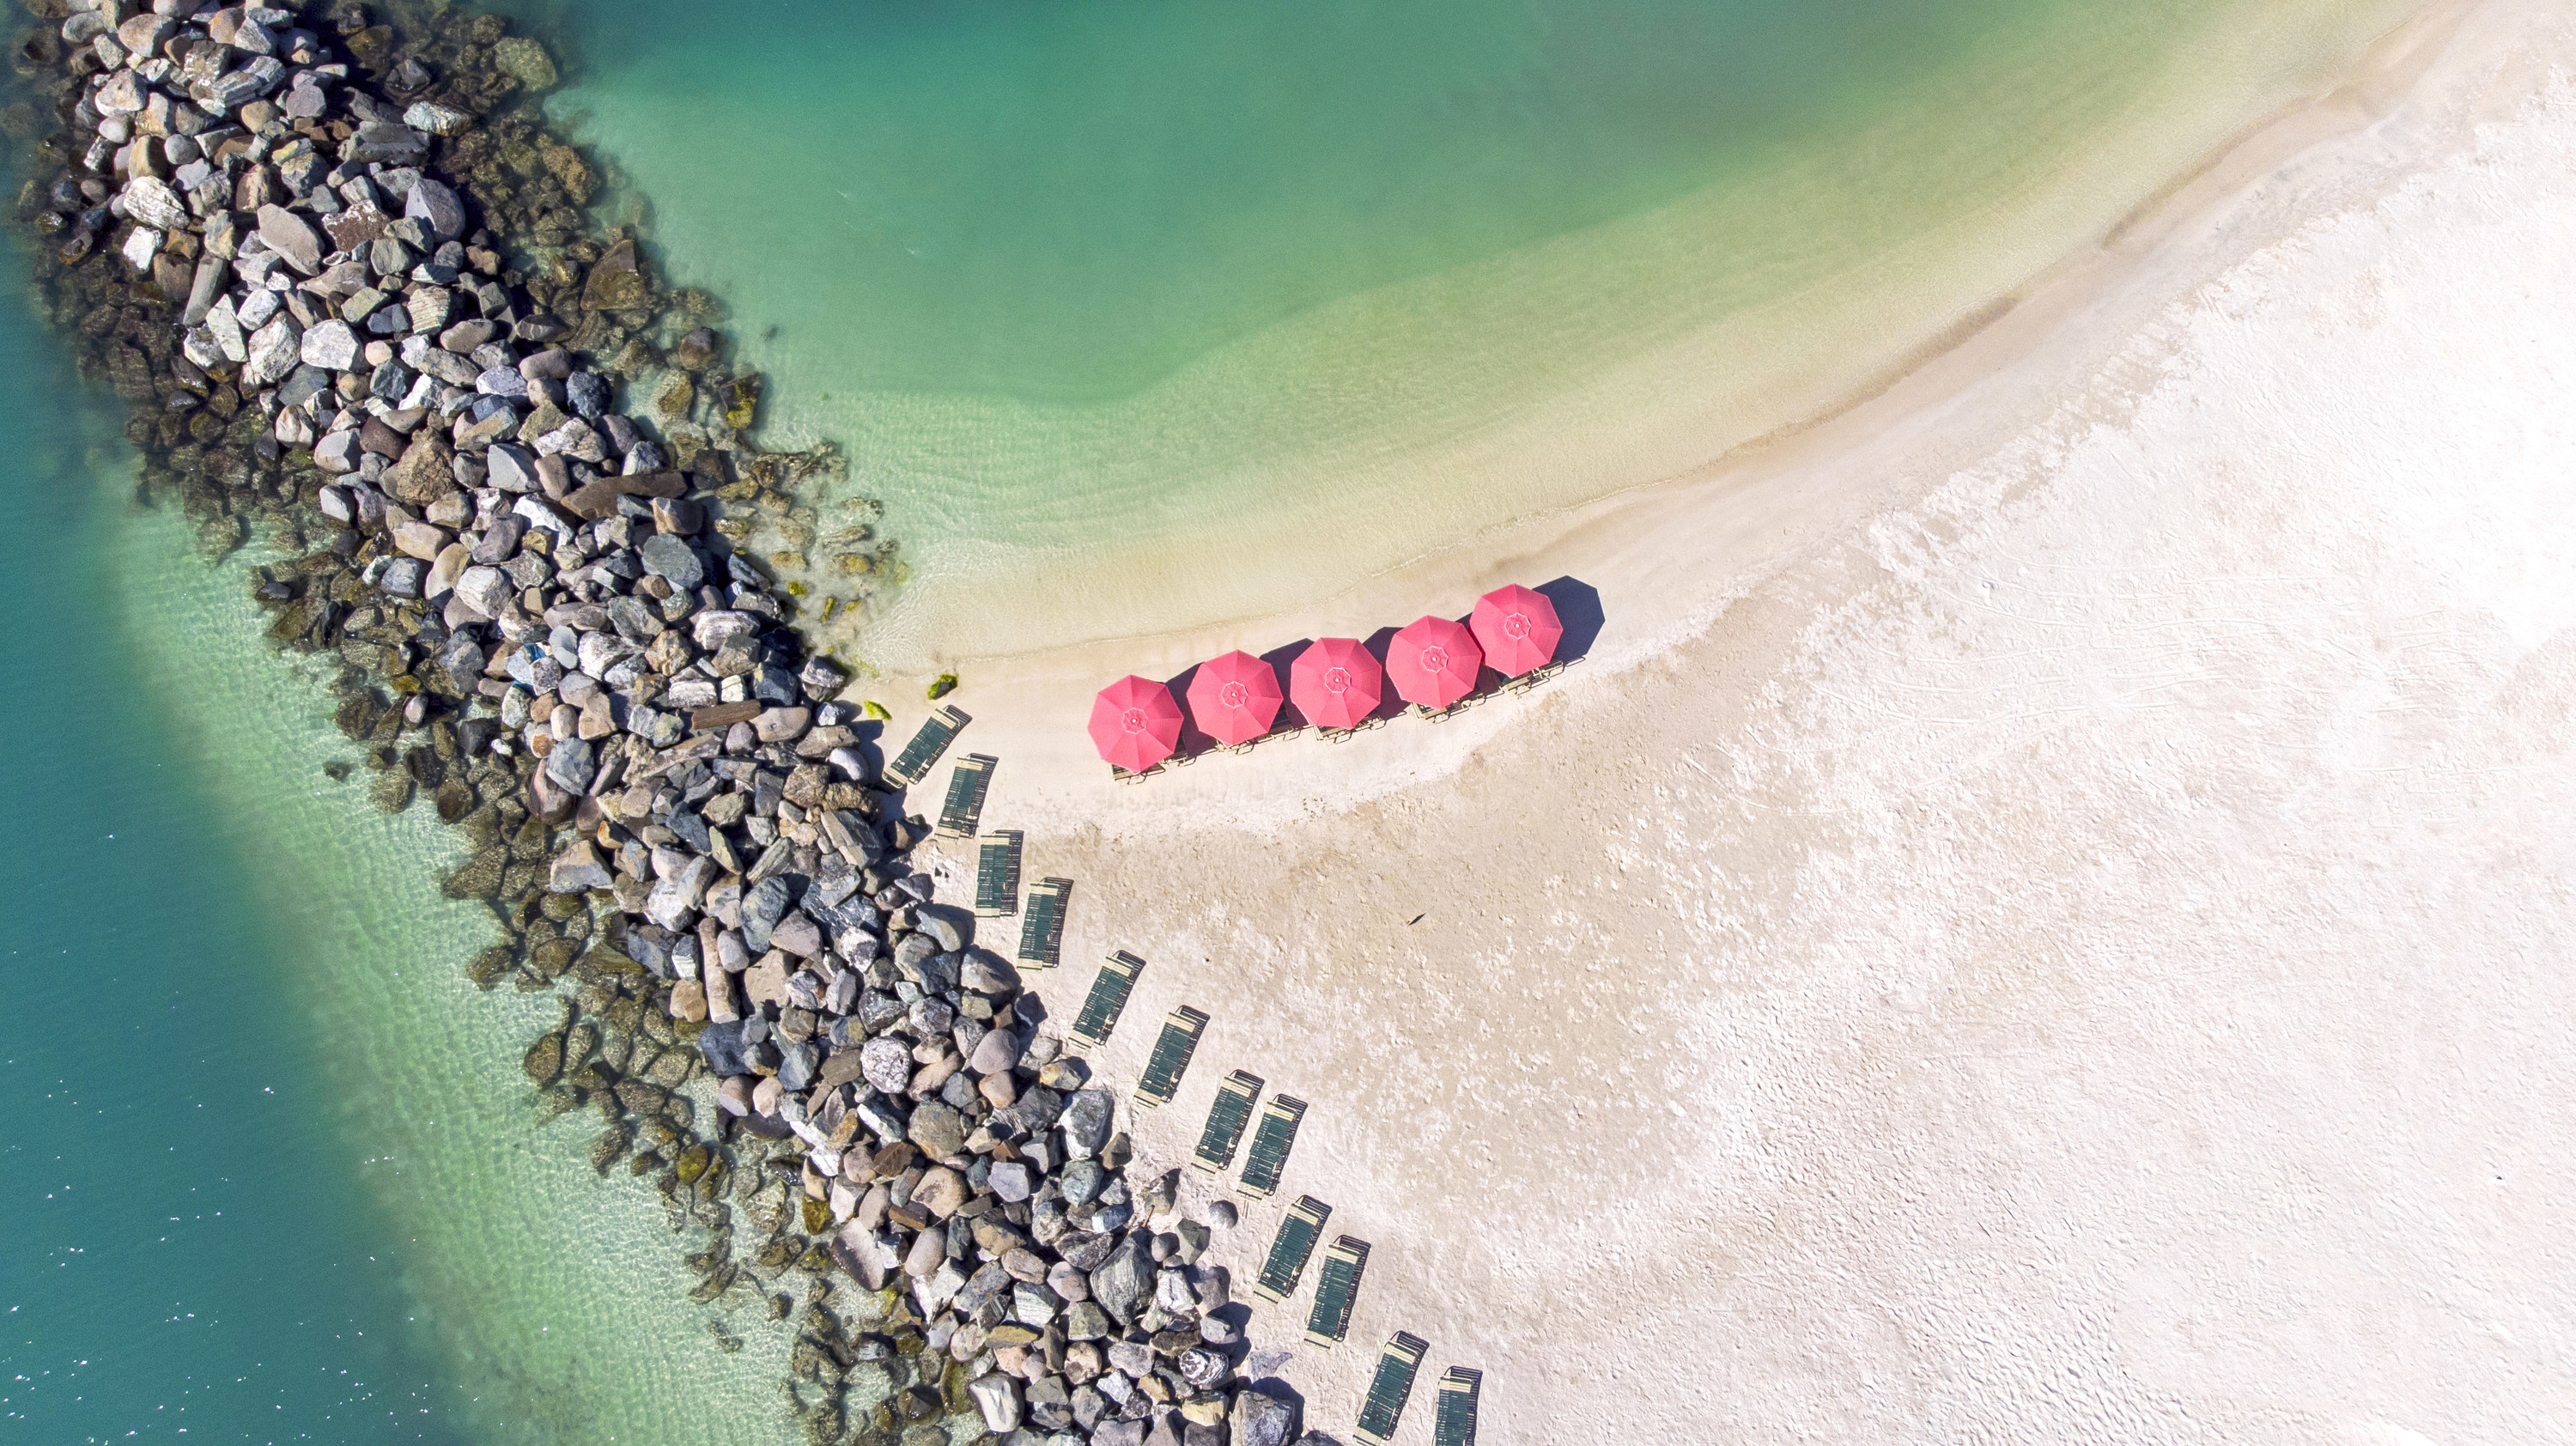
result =
[{"label": "pale dry sand beach holding the pink umbrellas and green loungers", "polygon": [[[1450,1364],[1489,1446],[2576,1438],[2553,10],[2383,54],[1937,387],[1314,616],[971,678],[987,825],[1077,879],[1059,1016],[1149,959],[1121,1085],[1213,1016],[1144,1155],[1234,1067],[1314,1106],[1283,1199],[1376,1255],[1285,1371],[1311,1425],[1404,1327],[1404,1443]],[[1128,668],[1558,572],[1607,626],[1533,696],[1079,763]]]}]

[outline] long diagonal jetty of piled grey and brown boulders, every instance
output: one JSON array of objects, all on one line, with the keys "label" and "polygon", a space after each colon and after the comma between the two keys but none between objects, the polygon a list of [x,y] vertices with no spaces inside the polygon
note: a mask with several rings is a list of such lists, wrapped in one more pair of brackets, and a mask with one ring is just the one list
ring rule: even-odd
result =
[{"label": "long diagonal jetty of piled grey and brown boulders", "polygon": [[332,665],[374,802],[471,843],[474,979],[564,995],[541,1111],[600,1113],[693,1299],[793,1315],[806,1438],[1293,1441],[1208,1229],[907,861],[850,673],[742,546],[811,539],[837,459],[755,448],[714,302],[592,224],[546,49],[438,3],[28,8],[18,219],[147,492],[286,557],[270,637]]}]

